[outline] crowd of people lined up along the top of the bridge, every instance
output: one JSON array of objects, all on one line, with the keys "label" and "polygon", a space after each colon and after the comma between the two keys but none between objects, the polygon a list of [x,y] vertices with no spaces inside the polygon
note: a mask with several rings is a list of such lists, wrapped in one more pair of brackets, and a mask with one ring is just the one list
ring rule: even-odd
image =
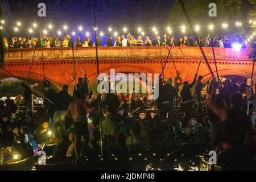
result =
[{"label": "crowd of people lined up along the top of the bridge", "polygon": [[[167,36],[164,34],[162,38],[160,36],[152,36],[150,39],[149,36],[146,36],[145,39],[142,36],[138,36],[136,39],[134,35],[128,34],[127,36],[109,36],[106,44],[104,45],[102,39],[97,36],[96,42],[98,47],[127,47],[127,46],[187,46],[187,47],[220,47],[220,48],[231,48],[232,47],[232,40],[229,39],[228,36],[223,37],[207,37],[203,38],[200,37],[197,40],[193,38],[192,35],[184,36],[180,38],[176,38],[174,36]],[[3,43],[5,44],[6,49],[11,48],[35,48],[35,47],[95,47],[96,42],[92,42],[92,38],[90,36],[85,36],[84,40],[81,40],[80,36],[77,36],[75,42],[72,39],[72,36],[67,34],[64,38],[57,38],[55,36],[46,36],[43,35],[42,38],[25,38],[25,37],[13,37],[11,40],[7,38],[3,39]],[[233,41],[236,43],[236,41]],[[241,42],[242,48],[255,48],[255,42],[253,43],[246,43],[245,41]]]}]

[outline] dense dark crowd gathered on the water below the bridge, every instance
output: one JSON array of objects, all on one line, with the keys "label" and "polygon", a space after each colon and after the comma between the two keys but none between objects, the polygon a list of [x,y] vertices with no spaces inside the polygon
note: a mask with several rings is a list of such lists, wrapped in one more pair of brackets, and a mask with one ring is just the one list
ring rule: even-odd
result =
[{"label": "dense dark crowd gathered on the water below the bridge", "polygon": [[[247,80],[238,85],[235,79],[206,83],[202,79],[197,75],[191,83],[179,76],[161,79],[157,110],[150,110],[154,102],[134,89],[129,94],[94,94],[86,74],[78,79],[72,96],[67,85],[57,93],[46,80],[42,84],[44,107],[35,113],[31,111],[31,88],[23,83],[25,107],[11,109],[9,98],[0,105],[1,151],[10,155],[15,151],[23,159],[40,150],[38,144],[54,138],[59,140],[54,159],[79,162],[85,155],[96,158],[101,143],[105,156],[125,159],[148,148],[192,141],[221,152],[218,165],[224,170],[250,169],[256,125],[254,113],[245,113]],[[250,100],[251,109],[254,97]]]}]

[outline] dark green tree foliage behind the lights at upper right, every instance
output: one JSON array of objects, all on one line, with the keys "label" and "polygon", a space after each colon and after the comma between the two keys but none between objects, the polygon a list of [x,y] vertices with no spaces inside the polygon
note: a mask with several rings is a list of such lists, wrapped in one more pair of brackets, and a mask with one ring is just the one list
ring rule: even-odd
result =
[{"label": "dark green tree foliage behind the lights at upper right", "polygon": [[[199,26],[201,26],[201,35],[205,36],[210,34],[211,36],[215,36],[227,34],[231,36],[245,36],[245,33],[249,30],[249,27],[246,26],[236,27],[234,22],[236,22],[236,20],[247,22],[248,14],[252,9],[250,0],[185,0],[183,2],[189,17],[192,20],[192,24],[195,26],[196,24],[199,24]],[[209,3],[216,3],[216,17],[210,17],[208,15],[210,10],[208,7]],[[188,26],[187,19],[185,18],[179,1],[176,1],[171,9],[170,23],[175,27],[181,27],[182,25]],[[210,23],[216,25],[211,32],[208,29]],[[229,24],[226,32],[222,28],[222,23]],[[188,33],[191,33],[191,31]]]}]

